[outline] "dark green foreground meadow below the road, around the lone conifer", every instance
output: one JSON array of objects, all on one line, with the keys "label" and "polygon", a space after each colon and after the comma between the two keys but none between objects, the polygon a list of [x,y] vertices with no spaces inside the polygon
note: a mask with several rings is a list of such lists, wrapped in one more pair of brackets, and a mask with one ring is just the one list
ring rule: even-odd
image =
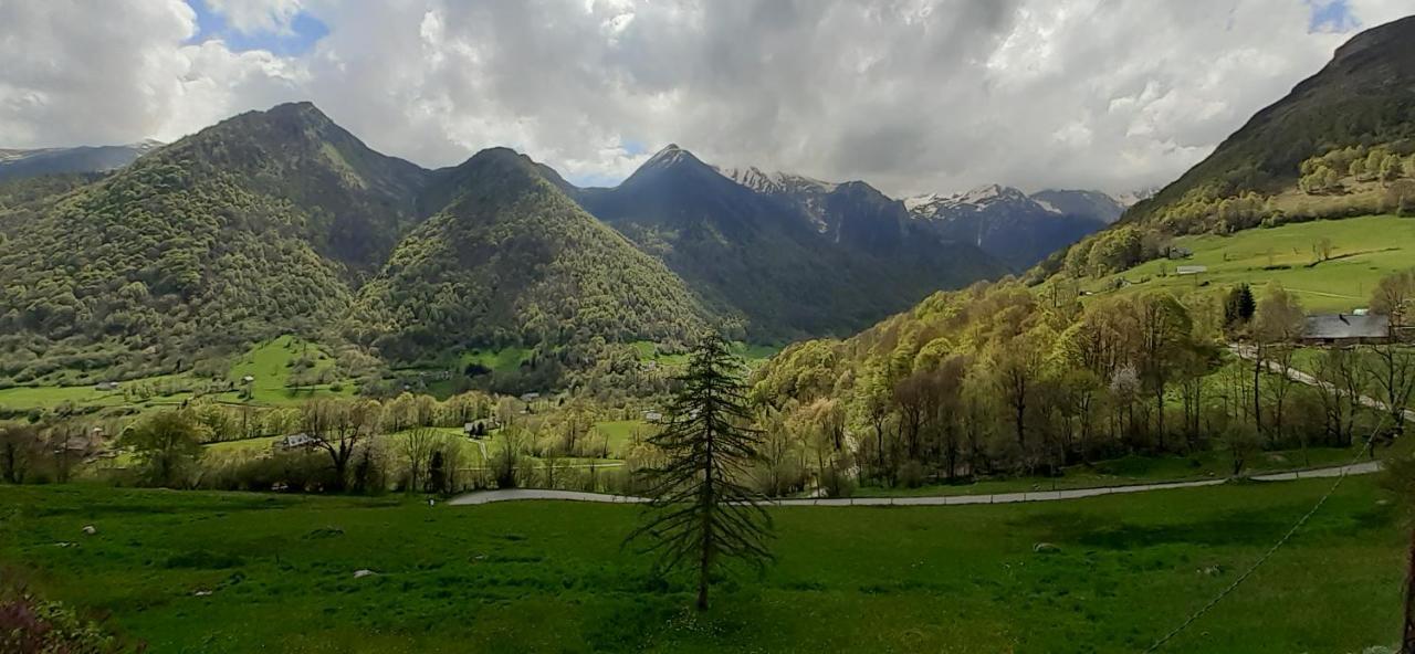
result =
[{"label": "dark green foreground meadow below the road, around the lone conifer", "polygon": [[[775,565],[719,585],[702,617],[620,546],[625,505],[0,487],[0,565],[163,653],[1135,653],[1329,484],[774,510]],[[1348,480],[1165,651],[1392,644],[1407,539],[1380,500]]]}]

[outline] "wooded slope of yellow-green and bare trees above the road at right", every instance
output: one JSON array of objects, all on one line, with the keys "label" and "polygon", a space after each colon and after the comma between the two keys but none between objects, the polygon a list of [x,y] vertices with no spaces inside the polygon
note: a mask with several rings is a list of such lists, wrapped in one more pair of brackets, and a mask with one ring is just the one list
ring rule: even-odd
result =
[{"label": "wooded slope of yellow-green and bare trees above the road at right", "polygon": [[[1392,334],[1412,296],[1409,272],[1374,290]],[[1353,398],[1405,406],[1415,351],[1309,351],[1305,365],[1330,382],[1320,388],[1269,374],[1296,365],[1305,317],[1279,285],[1054,303],[1019,282],[983,283],[849,340],[788,347],[757,372],[753,399],[808,443],[824,480],[859,469],[880,486],[1207,450],[1237,474],[1264,449],[1350,447],[1375,425],[1398,433],[1404,412],[1380,418]],[[1255,361],[1228,354],[1235,341]]]}]

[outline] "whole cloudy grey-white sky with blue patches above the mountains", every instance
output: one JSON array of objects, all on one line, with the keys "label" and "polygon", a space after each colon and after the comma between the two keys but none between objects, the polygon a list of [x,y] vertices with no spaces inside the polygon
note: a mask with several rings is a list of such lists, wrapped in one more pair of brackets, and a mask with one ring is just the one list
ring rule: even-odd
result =
[{"label": "whole cloudy grey-white sky with blue patches above the mountains", "polygon": [[308,99],[436,167],[702,159],[907,195],[1174,178],[1409,0],[0,0],[0,147]]}]

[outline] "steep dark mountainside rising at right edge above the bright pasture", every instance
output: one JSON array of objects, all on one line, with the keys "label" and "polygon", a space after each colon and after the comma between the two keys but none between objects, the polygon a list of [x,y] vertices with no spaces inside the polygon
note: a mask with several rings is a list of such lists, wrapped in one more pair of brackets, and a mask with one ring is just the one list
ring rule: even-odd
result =
[{"label": "steep dark mountainside rising at right edge above the bright pasture", "polygon": [[1177,235],[1380,212],[1415,214],[1415,17],[1353,37],[1213,154],[1033,279],[1173,256]]}]

